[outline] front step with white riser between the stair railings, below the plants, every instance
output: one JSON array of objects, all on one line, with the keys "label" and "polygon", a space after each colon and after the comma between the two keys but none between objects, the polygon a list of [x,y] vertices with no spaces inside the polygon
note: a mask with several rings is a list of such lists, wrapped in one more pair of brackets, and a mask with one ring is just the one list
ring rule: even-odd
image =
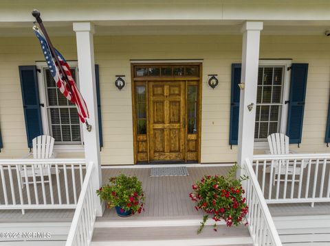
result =
[{"label": "front step with white riser between the stair railings, below the plants", "polygon": [[91,245],[252,245],[248,228],[243,225],[218,225],[217,232],[206,225],[201,234],[197,234],[198,228],[198,225],[94,227]]}]

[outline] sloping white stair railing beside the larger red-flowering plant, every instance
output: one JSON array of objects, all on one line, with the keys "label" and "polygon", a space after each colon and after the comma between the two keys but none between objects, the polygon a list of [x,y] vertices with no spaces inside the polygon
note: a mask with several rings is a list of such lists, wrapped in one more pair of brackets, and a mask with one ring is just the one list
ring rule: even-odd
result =
[{"label": "sloping white stair railing beside the larger red-flowering plant", "polygon": [[246,219],[254,245],[282,246],[250,160],[247,159],[243,162],[242,171],[249,177],[243,182],[243,186],[246,203],[249,206]]}]

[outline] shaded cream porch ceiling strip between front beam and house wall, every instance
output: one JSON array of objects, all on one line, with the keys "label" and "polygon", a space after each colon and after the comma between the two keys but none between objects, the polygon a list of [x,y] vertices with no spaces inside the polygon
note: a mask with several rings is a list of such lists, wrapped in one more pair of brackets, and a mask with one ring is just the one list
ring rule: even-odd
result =
[{"label": "shaded cream porch ceiling strip between front beam and house wall", "polygon": [[[74,36],[72,21],[45,21],[51,36]],[[243,21],[93,21],[96,36],[241,34]],[[262,35],[324,35],[329,21],[263,21]],[[32,21],[1,22],[0,36],[33,36]]]}]

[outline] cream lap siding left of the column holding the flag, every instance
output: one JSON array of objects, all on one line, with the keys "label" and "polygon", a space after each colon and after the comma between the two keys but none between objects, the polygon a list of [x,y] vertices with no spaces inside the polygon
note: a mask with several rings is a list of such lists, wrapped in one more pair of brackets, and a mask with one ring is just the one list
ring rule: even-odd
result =
[{"label": "cream lap siding left of the column holding the flag", "polygon": [[[67,60],[76,60],[74,37],[52,38]],[[19,66],[43,61],[39,42],[34,37],[0,38],[0,125],[4,148],[0,158],[21,158],[28,153]],[[61,153],[58,157],[81,157],[83,153]]]}]

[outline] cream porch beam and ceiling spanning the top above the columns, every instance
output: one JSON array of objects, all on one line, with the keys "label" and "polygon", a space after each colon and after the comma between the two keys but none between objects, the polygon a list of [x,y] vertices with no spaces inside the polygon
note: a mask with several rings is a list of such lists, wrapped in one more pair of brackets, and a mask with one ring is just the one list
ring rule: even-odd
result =
[{"label": "cream porch beam and ceiling spanning the top above the columns", "polygon": [[91,21],[96,35],[239,34],[243,21],[263,21],[263,34],[322,35],[328,0],[1,0],[0,36],[30,36],[38,8],[51,35],[74,35]]}]

